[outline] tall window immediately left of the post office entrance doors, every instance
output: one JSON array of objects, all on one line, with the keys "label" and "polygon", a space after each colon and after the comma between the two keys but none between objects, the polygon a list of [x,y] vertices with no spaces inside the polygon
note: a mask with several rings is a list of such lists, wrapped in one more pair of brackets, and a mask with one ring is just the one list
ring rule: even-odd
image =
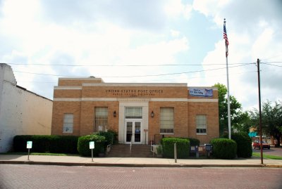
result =
[{"label": "tall window immediately left of the post office entrance doors", "polygon": [[95,107],[94,131],[106,131],[108,124],[108,107]]}]

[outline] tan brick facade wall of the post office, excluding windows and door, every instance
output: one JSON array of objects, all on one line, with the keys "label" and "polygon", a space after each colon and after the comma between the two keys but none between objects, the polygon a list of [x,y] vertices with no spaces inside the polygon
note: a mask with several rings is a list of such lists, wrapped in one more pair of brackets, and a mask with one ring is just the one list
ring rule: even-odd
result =
[{"label": "tan brick facade wall of the post office, excluding windows and door", "polygon": [[[82,86],[82,83],[101,83],[99,79],[59,79],[59,86]],[[173,84],[171,84],[173,85]],[[74,98],[76,101],[58,101],[60,98]],[[62,135],[63,114],[73,113],[73,135],[87,135],[94,131],[94,108],[108,107],[108,126],[107,129],[113,129],[118,132],[119,104],[116,101],[95,101],[82,98],[149,98],[149,140],[159,134],[159,114],[160,107],[174,108],[174,134],[165,136],[179,136],[198,138],[201,143],[209,143],[212,138],[219,137],[219,105],[217,100],[218,91],[214,90],[214,96],[211,98],[201,98],[189,95],[187,86],[124,86],[124,84],[106,84],[84,85],[82,90],[56,88],[54,90],[54,105],[52,119],[52,134]],[[156,101],[157,99],[166,99]],[[168,101],[171,98],[172,101]],[[176,100],[175,100],[176,99]],[[177,100],[180,101],[178,102]],[[192,102],[188,100],[209,100],[208,102]],[[87,101],[89,100],[89,101]],[[113,112],[116,111],[116,117]],[[154,117],[151,112],[154,111]],[[207,115],[207,135],[197,135],[196,133],[196,115]]]}]

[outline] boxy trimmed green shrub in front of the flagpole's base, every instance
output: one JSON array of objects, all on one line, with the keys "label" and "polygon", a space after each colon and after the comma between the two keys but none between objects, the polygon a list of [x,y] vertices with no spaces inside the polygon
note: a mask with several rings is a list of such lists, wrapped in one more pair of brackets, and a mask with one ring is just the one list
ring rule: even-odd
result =
[{"label": "boxy trimmed green shrub in front of the flagpole's base", "polygon": [[212,155],[220,159],[234,159],[237,152],[237,144],[232,139],[214,138],[211,141]]}]

